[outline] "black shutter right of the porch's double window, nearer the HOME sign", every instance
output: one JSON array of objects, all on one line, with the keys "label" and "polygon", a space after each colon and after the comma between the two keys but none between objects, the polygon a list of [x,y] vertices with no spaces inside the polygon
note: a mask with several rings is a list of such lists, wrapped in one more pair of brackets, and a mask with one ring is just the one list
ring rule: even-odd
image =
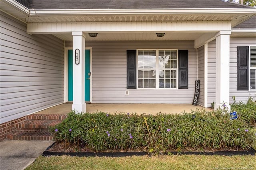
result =
[{"label": "black shutter right of the porch's double window, nearer the HOME sign", "polygon": [[179,50],[179,89],[188,89],[188,50]]}]

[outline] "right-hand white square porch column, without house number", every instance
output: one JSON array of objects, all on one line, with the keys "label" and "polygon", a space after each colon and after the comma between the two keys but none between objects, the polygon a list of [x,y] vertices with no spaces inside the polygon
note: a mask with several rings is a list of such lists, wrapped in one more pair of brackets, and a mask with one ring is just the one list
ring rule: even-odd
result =
[{"label": "right-hand white square porch column, without house number", "polygon": [[230,111],[229,105],[229,55],[231,31],[220,31],[216,35],[216,103],[214,109],[224,108]]}]

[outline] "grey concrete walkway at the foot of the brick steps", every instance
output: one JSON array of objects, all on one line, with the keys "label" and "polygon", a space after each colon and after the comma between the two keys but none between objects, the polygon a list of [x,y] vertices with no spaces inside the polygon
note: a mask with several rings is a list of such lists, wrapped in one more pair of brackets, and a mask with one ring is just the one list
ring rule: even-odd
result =
[{"label": "grey concrete walkway at the foot of the brick steps", "polygon": [[4,140],[0,142],[0,169],[23,170],[53,141]]}]

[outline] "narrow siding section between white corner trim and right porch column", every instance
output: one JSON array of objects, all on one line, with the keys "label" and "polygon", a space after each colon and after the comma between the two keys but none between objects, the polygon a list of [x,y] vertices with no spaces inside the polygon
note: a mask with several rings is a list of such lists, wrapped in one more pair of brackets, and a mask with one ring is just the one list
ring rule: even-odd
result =
[{"label": "narrow siding section between white corner trim and right porch column", "polygon": [[216,41],[208,43],[208,107],[215,102],[216,86]]}]

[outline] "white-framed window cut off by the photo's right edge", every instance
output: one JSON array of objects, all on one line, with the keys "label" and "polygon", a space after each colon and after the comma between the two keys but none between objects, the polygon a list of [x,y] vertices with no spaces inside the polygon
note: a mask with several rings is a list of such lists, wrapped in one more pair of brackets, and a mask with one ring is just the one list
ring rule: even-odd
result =
[{"label": "white-framed window cut off by the photo's right edge", "polygon": [[250,90],[256,90],[256,46],[249,46],[249,84]]}]

